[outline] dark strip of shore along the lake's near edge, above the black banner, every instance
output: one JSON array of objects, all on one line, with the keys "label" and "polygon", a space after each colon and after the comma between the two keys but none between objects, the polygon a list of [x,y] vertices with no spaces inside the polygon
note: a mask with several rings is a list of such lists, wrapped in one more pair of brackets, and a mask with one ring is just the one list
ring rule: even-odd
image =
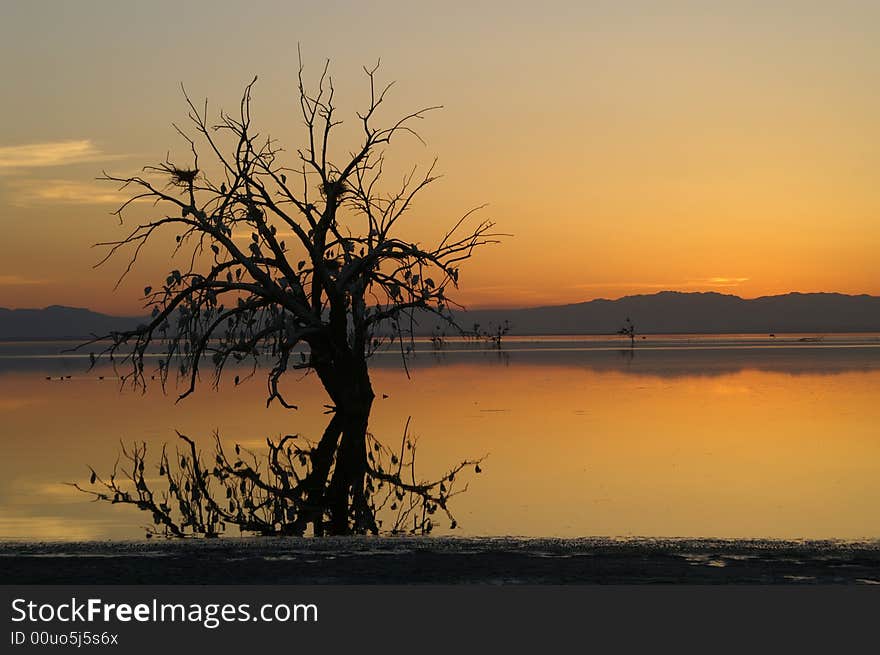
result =
[{"label": "dark strip of shore along the lake's near edge, above the black banner", "polygon": [[880,541],[329,538],[0,543],[4,584],[880,584]]}]

